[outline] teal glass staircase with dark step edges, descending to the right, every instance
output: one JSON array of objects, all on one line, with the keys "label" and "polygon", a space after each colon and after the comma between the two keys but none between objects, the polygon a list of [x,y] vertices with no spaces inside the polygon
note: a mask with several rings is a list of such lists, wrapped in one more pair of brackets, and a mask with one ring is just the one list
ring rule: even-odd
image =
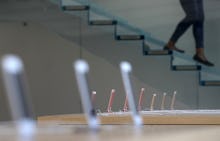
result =
[{"label": "teal glass staircase with dark step edges, descending to the right", "polygon": [[[142,43],[143,55],[170,56],[170,68],[173,71],[198,71],[199,85],[201,86],[220,86],[219,70],[209,68],[195,62],[191,56],[178,52],[163,50],[166,44],[164,41],[153,37],[150,33],[129,24],[126,20],[111,15],[110,12],[101,8],[95,3],[90,3],[89,0],[50,0],[53,3],[59,4],[61,9],[73,14],[75,11],[87,12],[86,20],[90,26],[113,26],[114,39],[117,41],[140,41]],[[150,45],[155,45],[158,48],[153,49]]]}]

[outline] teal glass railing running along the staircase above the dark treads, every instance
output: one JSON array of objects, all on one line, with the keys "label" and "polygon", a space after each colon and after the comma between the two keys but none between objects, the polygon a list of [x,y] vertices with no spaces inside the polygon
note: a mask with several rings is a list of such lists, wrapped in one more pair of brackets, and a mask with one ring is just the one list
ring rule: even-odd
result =
[{"label": "teal glass railing running along the staircase above the dark treads", "polygon": [[[51,0],[55,3],[60,3],[59,0]],[[89,20],[98,20],[98,19],[111,19],[117,21],[117,34],[137,34],[143,35],[145,37],[145,43],[150,46],[151,50],[154,49],[163,49],[164,45],[166,44],[165,41],[160,40],[159,38],[153,36],[150,32],[146,32],[141,28],[132,25],[127,20],[118,17],[116,15],[111,14],[111,12],[107,11],[106,8],[99,6],[98,4],[91,2],[90,0],[62,0],[60,3],[61,5],[88,5],[89,6]],[[198,65],[204,68],[206,72],[215,72],[215,74],[220,74],[218,69],[209,68],[207,69],[205,66],[201,64],[197,64],[193,59],[192,55],[180,54],[180,53],[173,53],[173,65]],[[216,67],[217,68],[217,67]]]}]

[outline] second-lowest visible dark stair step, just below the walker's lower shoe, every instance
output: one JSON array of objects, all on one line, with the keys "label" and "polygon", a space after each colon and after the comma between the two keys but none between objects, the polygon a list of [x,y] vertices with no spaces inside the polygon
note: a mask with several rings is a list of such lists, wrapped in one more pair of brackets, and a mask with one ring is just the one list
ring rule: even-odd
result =
[{"label": "second-lowest visible dark stair step, just below the walker's lower shoe", "polygon": [[172,69],[175,71],[198,71],[201,70],[200,65],[174,65]]}]

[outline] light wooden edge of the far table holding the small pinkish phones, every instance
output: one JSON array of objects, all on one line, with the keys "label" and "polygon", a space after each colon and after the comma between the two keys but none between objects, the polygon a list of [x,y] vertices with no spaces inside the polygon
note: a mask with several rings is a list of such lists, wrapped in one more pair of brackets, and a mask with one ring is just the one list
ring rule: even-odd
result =
[{"label": "light wooden edge of the far table holding the small pinkish phones", "polygon": [[[168,111],[142,112],[146,125],[220,125],[220,114],[216,111]],[[130,113],[98,114],[104,125],[133,124]],[[59,124],[87,124],[83,114],[49,115],[38,117],[38,122],[56,122]]]}]

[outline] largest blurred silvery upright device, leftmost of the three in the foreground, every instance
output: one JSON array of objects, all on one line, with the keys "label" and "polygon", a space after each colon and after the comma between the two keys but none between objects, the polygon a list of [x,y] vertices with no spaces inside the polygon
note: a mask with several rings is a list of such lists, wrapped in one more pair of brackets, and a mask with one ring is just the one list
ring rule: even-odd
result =
[{"label": "largest blurred silvery upright device, leftmost of the three in the foreground", "polygon": [[23,62],[12,54],[4,56],[1,61],[10,110],[17,126],[19,141],[32,141],[36,123],[29,104]]}]

